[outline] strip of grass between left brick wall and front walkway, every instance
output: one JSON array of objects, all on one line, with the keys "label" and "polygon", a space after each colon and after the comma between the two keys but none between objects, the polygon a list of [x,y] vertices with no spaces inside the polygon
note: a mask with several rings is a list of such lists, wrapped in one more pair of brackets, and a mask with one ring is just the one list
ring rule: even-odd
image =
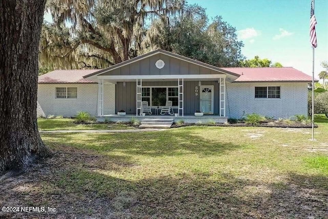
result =
[{"label": "strip of grass between left brick wall and front walkway", "polygon": [[99,130],[99,129],[131,129],[132,127],[125,124],[76,124],[75,120],[71,118],[64,119],[49,119],[38,118],[37,124],[39,130]]}]

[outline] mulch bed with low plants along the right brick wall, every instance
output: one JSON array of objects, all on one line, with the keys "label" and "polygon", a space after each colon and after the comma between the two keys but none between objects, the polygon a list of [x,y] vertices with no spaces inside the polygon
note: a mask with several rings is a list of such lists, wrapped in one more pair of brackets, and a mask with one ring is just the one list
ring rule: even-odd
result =
[{"label": "mulch bed with low plants along the right brick wall", "polygon": [[[239,122],[239,123],[228,123],[228,124],[224,124],[224,123],[215,123],[215,124],[182,124],[182,125],[177,125],[177,124],[173,124],[172,128],[179,128],[179,127],[185,127],[185,126],[236,126],[236,127],[240,127],[240,126],[249,126],[252,127],[253,125],[251,124],[247,124],[245,122]],[[269,121],[265,121],[265,122],[261,122],[259,125],[254,125],[254,127],[276,127],[276,128],[312,128],[312,124],[304,124],[301,122],[297,122],[297,121],[293,121],[292,123],[285,123],[283,121],[278,121],[278,120],[269,120]],[[314,124],[315,128],[318,128],[318,125]]]}]

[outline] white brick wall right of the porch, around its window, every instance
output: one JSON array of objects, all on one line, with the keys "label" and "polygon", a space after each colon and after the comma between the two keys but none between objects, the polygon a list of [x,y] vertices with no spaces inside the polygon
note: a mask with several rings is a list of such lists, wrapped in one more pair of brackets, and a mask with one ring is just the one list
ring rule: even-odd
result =
[{"label": "white brick wall right of the porch, around its window", "polygon": [[[280,86],[281,98],[255,98],[255,87]],[[274,118],[308,115],[308,83],[227,83],[226,115],[240,118],[259,113]]]}]

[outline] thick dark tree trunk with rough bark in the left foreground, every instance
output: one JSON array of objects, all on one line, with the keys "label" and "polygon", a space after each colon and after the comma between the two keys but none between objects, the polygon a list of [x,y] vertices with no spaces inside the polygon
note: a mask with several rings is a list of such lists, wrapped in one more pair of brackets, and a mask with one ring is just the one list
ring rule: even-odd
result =
[{"label": "thick dark tree trunk with rough bark in the left foreground", "polygon": [[0,1],[0,174],[49,155],[37,129],[38,43],[46,0]]}]

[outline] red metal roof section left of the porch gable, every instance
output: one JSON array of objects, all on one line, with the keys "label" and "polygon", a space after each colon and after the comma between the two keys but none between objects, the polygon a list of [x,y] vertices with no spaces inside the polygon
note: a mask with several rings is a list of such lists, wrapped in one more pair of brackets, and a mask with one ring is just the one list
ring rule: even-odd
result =
[{"label": "red metal roof section left of the porch gable", "polygon": [[99,71],[100,69],[86,70],[54,70],[47,74],[38,76],[40,84],[61,84],[61,83],[95,83],[83,76]]}]

